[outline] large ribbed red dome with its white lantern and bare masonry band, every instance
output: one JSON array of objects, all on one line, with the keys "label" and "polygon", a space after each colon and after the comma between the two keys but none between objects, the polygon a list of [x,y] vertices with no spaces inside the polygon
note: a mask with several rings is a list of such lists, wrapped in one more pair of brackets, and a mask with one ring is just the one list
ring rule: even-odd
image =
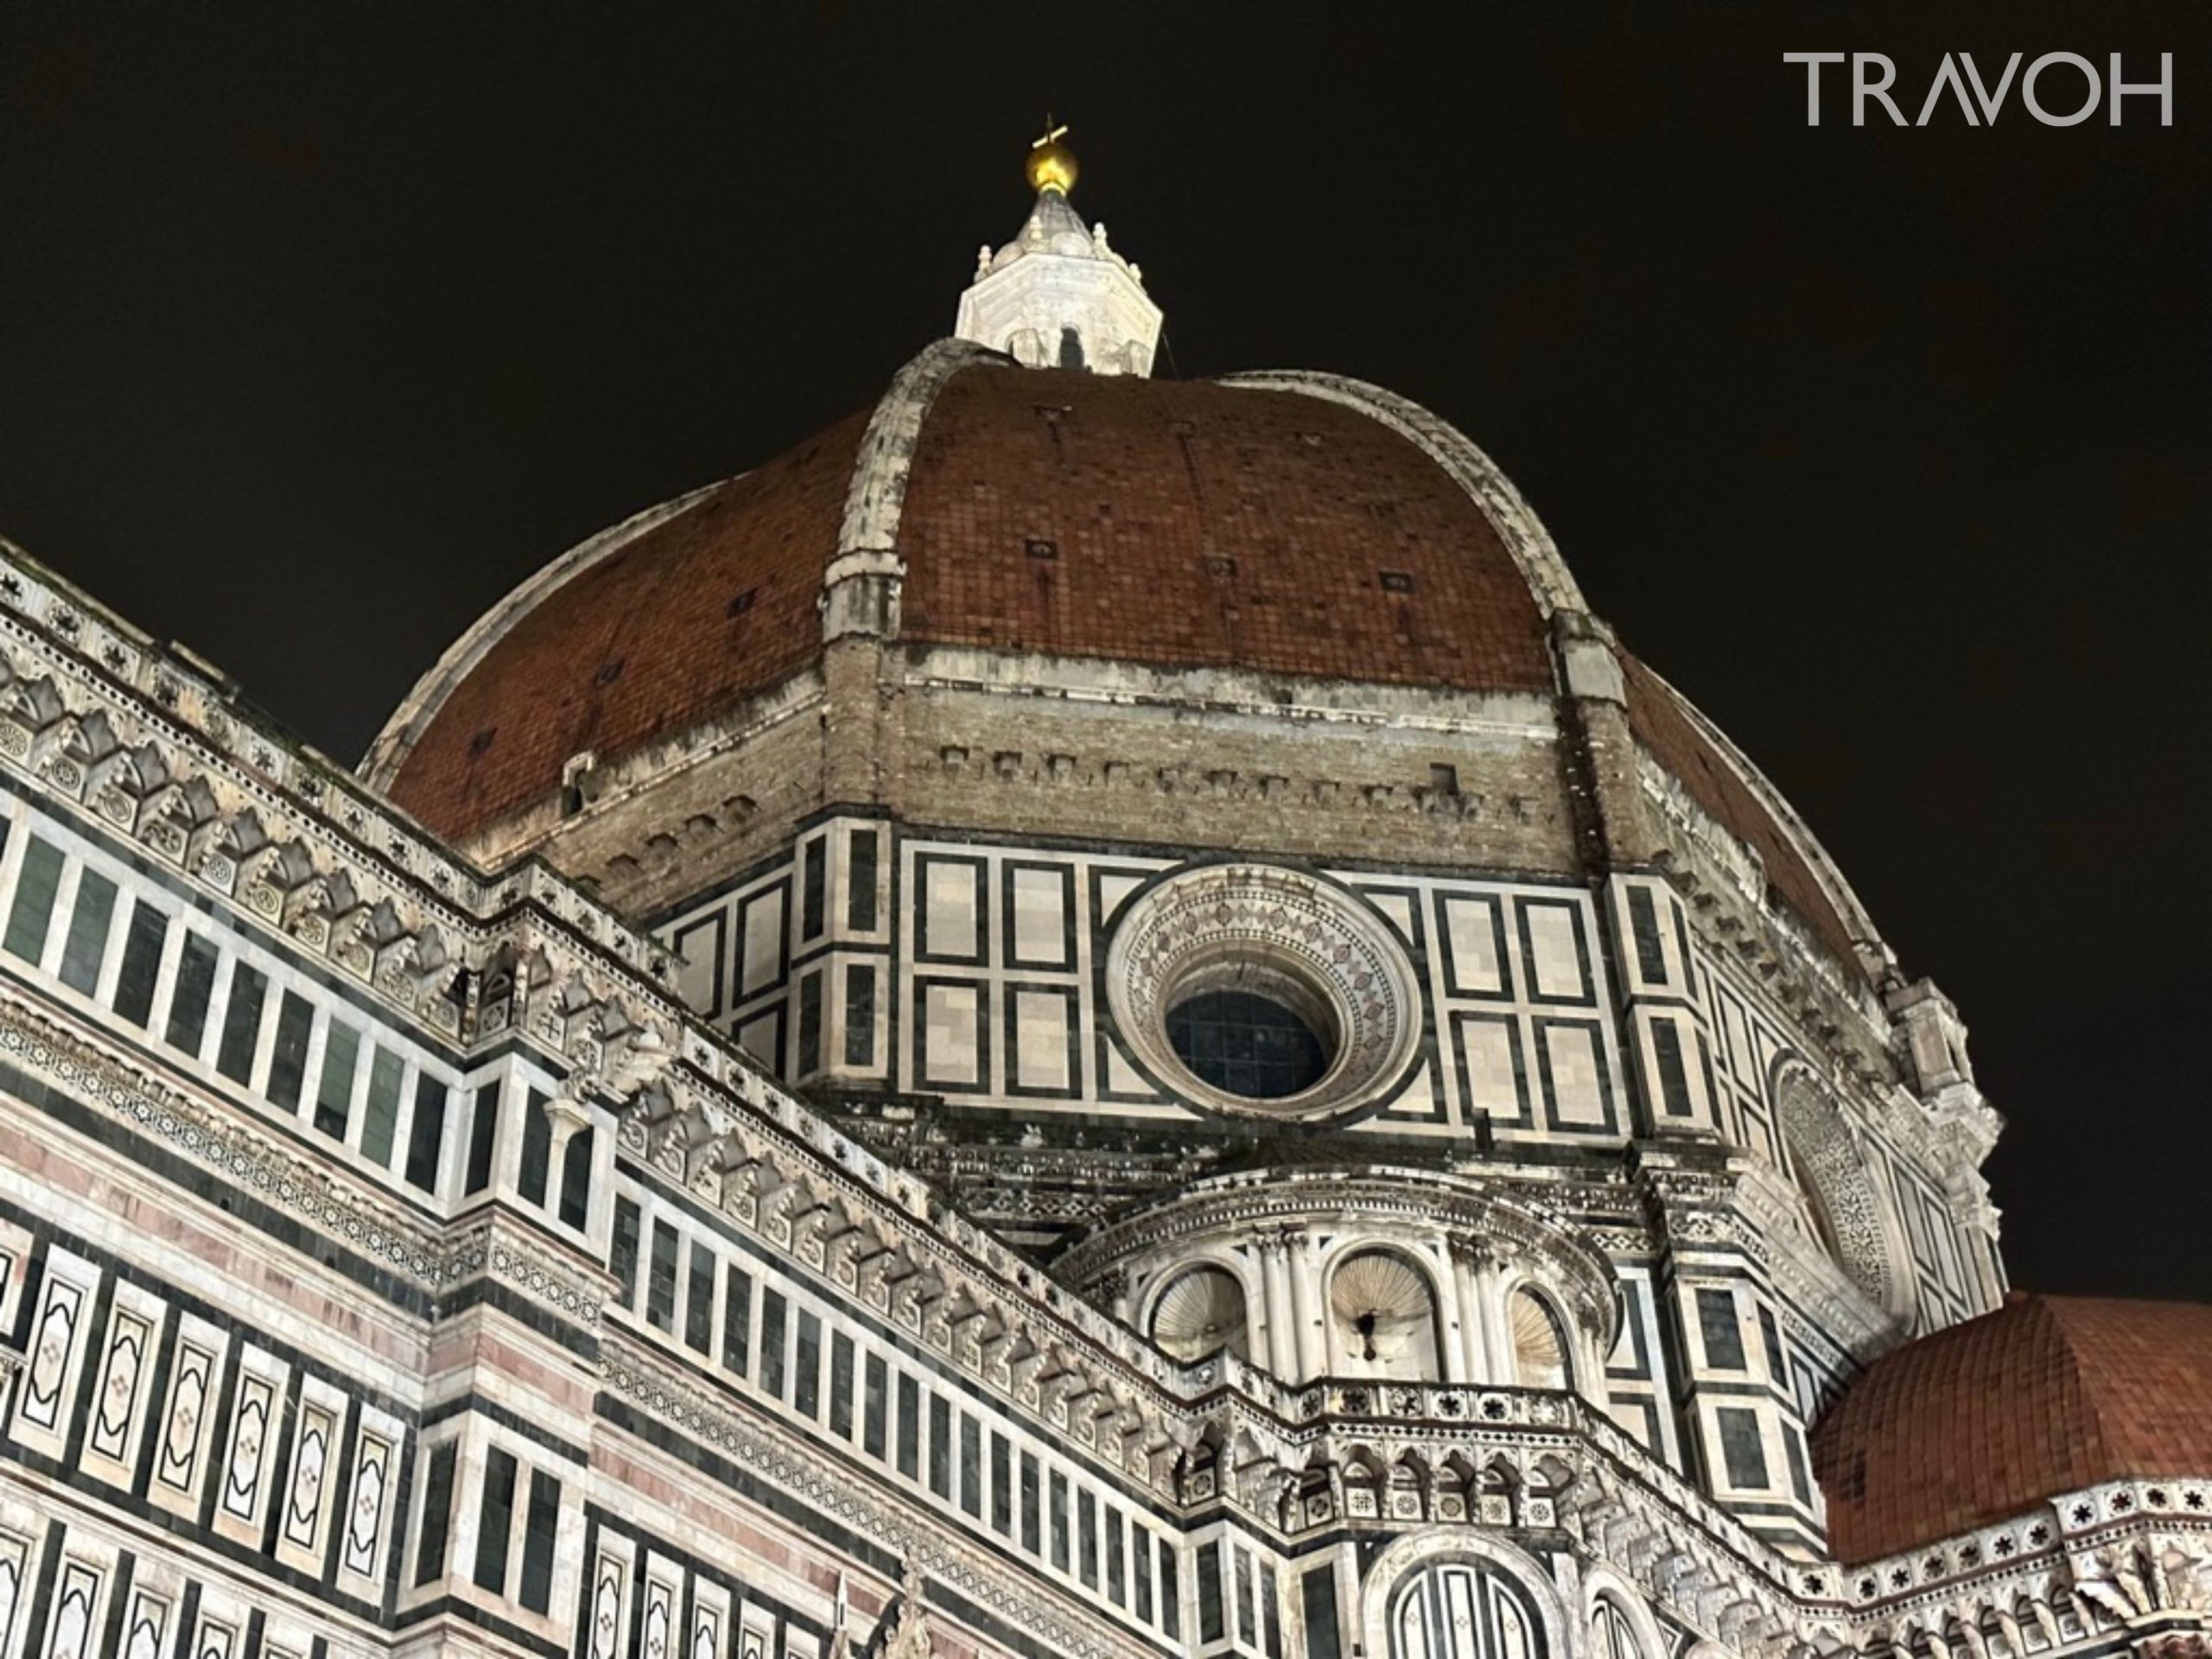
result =
[{"label": "large ribbed red dome with its white lantern and bare masonry band", "polygon": [[[1818,843],[1590,617],[1489,456],[1343,376],[1150,378],[1159,307],[1071,206],[1073,161],[1046,170],[1022,234],[982,250],[953,338],[869,409],[515,588],[392,717],[367,781],[480,856],[542,849],[646,911],[706,865],[734,874],[768,816],[962,823],[967,803],[902,787],[931,761],[1157,779],[1177,812],[1256,790],[1263,814],[1159,827],[1219,852],[1544,878],[1679,856],[1697,867],[1677,865],[1677,885],[1743,911],[1739,931],[1809,945],[1851,995],[1880,982],[1887,953]],[[845,641],[876,657],[841,690]],[[942,703],[956,684],[1031,703],[962,726]],[[1106,754],[1097,721],[1044,719],[1037,697],[1206,714],[1208,754],[1133,734],[1130,754]],[[883,717],[929,699],[920,723]],[[1214,719],[1230,712],[1272,728]],[[874,730],[869,754],[807,759],[805,714],[825,739]],[[1606,726],[1595,772],[1571,759],[1590,719]],[[772,730],[768,759],[754,739]],[[1338,759],[1292,732],[1334,732]],[[1409,836],[1343,816],[1405,807],[1427,818]],[[1303,825],[1283,821],[1294,810]],[[1031,827],[1097,832],[1079,807],[1046,816]]]}]

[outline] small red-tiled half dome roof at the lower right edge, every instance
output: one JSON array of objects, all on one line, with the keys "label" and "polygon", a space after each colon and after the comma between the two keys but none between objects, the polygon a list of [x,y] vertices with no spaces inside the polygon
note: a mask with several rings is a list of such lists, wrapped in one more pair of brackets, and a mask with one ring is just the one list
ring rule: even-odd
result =
[{"label": "small red-tiled half dome roof at the lower right edge", "polygon": [[1845,1562],[2104,1480],[2212,1475],[2212,1307],[2015,1294],[1876,1360],[1812,1453]]}]

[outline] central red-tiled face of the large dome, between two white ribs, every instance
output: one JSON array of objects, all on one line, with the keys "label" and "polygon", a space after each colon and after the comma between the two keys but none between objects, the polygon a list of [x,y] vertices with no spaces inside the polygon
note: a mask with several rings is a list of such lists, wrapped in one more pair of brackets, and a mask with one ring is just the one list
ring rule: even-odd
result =
[{"label": "central red-tiled face of the large dome, between two white ribs", "polygon": [[1551,695],[1528,582],[1413,442],[1294,392],[969,367],[907,484],[902,635]]}]

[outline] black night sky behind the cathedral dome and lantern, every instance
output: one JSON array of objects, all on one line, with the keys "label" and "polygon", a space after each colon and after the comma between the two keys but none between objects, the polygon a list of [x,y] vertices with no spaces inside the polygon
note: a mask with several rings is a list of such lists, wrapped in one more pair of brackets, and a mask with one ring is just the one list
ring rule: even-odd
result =
[{"label": "black night sky behind the cathedral dome and lantern", "polygon": [[[1947,49],[2172,51],[2174,126],[1851,128],[1829,71],[1807,128],[1805,49],[1907,115]],[[949,332],[1046,106],[1164,369],[1444,414],[1783,785],[1973,1029],[2015,1279],[2212,1296],[2203,0],[18,2],[0,531],[354,759]]]}]

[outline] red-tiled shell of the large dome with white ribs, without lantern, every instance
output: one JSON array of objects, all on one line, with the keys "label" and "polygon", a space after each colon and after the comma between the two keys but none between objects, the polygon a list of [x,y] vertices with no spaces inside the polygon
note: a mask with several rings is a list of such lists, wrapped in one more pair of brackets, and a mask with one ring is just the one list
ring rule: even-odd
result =
[{"label": "red-tiled shell of the large dome with white ribs, without lantern", "polygon": [[[874,409],[524,582],[363,770],[469,841],[542,810],[571,757],[675,754],[818,666],[825,580],[856,553],[902,568],[907,646],[1241,670],[1303,681],[1298,701],[1327,681],[1548,699],[1551,615],[1586,608],[1489,458],[1387,392],[1024,369],[947,341]],[[1781,796],[1624,672],[1637,739],[1851,964],[1871,929]]]}]

